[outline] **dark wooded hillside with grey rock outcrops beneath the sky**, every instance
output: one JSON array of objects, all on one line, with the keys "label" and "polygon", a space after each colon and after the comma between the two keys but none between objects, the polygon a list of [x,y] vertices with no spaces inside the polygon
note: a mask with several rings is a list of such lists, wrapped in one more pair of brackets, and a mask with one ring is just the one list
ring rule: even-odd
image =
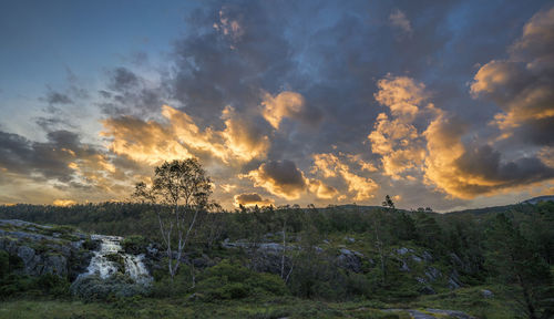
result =
[{"label": "dark wooded hillside with grey rock outcrops beneath the sky", "polygon": [[[552,202],[443,215],[353,205],[203,214],[173,282],[152,212],[155,208],[161,206],[105,203],[1,207],[0,218],[51,224],[2,222],[0,248],[8,260],[2,263],[7,263],[6,269],[12,269],[11,275],[2,275],[3,311],[42,309],[48,303],[34,300],[47,298],[59,317],[74,316],[76,312],[70,309],[79,309],[75,311],[95,311],[102,313],[100,317],[148,318],[153,315],[141,311],[151,311],[147,309],[152,307],[178,317],[193,309],[207,313],[212,302],[224,302],[226,306],[213,310],[213,317],[425,318],[417,316],[440,317],[440,311],[432,309],[448,309],[465,313],[445,315],[451,318],[517,318],[527,312],[522,306],[523,291],[533,291],[535,311],[551,313],[552,305],[546,300],[552,296],[552,282],[545,278],[550,278],[554,260]],[[116,239],[121,244],[110,244],[110,247],[120,248],[113,256],[102,255],[101,264],[112,265],[105,267],[121,276],[89,277],[79,285],[89,292],[80,294],[71,287],[79,281],[79,274],[86,272],[86,264],[90,268],[91,258],[100,251],[98,238],[103,238],[90,234],[127,238]],[[512,254],[506,250],[512,246],[521,265],[534,269],[532,272],[511,272],[514,265],[502,256]],[[23,250],[28,253],[21,255]],[[48,261],[52,258],[58,261]],[[153,276],[151,284],[133,284],[126,264],[130,258],[143,260],[144,269]],[[58,268],[38,268],[52,264]],[[523,276],[527,290],[514,285],[511,276]],[[75,306],[82,302],[79,300],[92,303]],[[103,305],[113,309],[106,310]],[[243,307],[248,310],[240,310]]]}]

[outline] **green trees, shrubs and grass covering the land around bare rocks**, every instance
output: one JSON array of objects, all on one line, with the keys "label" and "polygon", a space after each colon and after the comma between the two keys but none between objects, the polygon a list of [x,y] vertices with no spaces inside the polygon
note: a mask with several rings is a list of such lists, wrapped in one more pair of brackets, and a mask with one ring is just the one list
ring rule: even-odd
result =
[{"label": "green trees, shrubs and grass covering the land around bare rocks", "polygon": [[[162,243],[154,210],[163,207],[0,206],[0,218],[123,235],[125,249],[142,251],[150,243]],[[70,292],[66,278],[14,275],[20,260],[0,254],[0,318],[410,318],[406,311],[383,309],[425,312],[429,308],[462,310],[478,318],[548,318],[554,296],[553,231],[552,202],[479,215],[355,205],[202,212],[186,249],[191,261],[172,280],[164,266],[167,260],[160,260],[151,289],[134,297],[79,298]],[[237,243],[256,248],[284,237],[286,245],[299,249],[284,251],[285,271],[271,274],[256,268],[255,249],[223,247],[224,239],[242,239]],[[360,269],[334,261],[340,249],[362,254]],[[424,277],[418,263],[401,270],[399,249],[432,255],[429,265],[444,275],[425,282],[432,292],[423,291],[414,279]],[[216,266],[194,267],[193,260]],[[449,287],[450,274],[461,287]],[[491,297],[484,297],[485,290]]]}]

